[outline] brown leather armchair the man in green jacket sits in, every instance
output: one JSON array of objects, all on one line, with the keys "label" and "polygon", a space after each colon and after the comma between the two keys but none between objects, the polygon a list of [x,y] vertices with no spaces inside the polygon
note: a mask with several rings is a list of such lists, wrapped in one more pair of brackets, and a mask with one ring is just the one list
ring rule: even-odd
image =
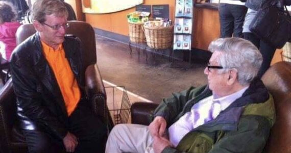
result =
[{"label": "brown leather armchair the man in green jacket sits in", "polygon": [[[291,62],[279,62],[269,68],[262,81],[273,95],[276,122],[263,152],[291,152]],[[131,106],[131,121],[149,125],[149,114],[158,104],[138,102]],[[251,143],[251,142],[250,142]]]}]

